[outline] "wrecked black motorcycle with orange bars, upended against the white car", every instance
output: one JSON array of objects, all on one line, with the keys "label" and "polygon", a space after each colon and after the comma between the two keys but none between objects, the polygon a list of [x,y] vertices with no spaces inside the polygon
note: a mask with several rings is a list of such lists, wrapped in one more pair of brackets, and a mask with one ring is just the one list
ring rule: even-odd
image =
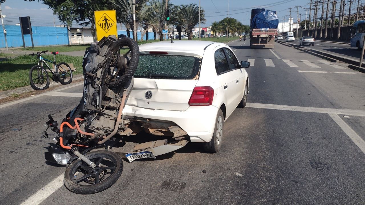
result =
[{"label": "wrecked black motorcycle with orange bars, upended against the white car", "polygon": [[[120,51],[128,51],[121,55]],[[58,123],[51,115],[48,128],[57,133],[55,143],[47,147],[47,161],[67,165],[64,184],[71,192],[92,194],[112,186],[123,171],[123,160],[153,158],[185,146],[186,133],[172,140],[138,144],[130,152],[112,152],[110,147],[123,135],[136,134],[132,127],[141,127],[143,119],[123,115],[138,66],[139,48],[131,38],[104,37],[91,43],[82,62],[84,89],[80,103]],[[176,127],[176,126],[175,126]],[[46,131],[42,132],[48,138]],[[141,129],[142,130],[142,129]],[[169,127],[174,136],[174,127]],[[115,135],[118,139],[116,139]],[[179,138],[177,138],[179,137]]]}]

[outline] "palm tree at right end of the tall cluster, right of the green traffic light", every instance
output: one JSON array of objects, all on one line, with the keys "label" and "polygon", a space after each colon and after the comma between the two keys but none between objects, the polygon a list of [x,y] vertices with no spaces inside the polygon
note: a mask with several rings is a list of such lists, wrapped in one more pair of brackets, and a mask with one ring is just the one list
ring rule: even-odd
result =
[{"label": "palm tree at right end of the tall cluster, right of the green traffic light", "polygon": [[[181,27],[188,34],[188,40],[192,38],[193,28],[199,24],[199,7],[196,4],[180,5]],[[200,21],[205,23],[204,10],[200,8]]]}]

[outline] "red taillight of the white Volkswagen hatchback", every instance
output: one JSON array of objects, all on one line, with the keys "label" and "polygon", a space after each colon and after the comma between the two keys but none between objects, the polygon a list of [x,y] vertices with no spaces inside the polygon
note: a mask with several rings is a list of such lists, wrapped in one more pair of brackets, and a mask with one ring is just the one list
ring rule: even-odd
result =
[{"label": "red taillight of the white Volkswagen hatchback", "polygon": [[189,100],[190,106],[207,106],[213,102],[214,90],[211,86],[195,87]]}]

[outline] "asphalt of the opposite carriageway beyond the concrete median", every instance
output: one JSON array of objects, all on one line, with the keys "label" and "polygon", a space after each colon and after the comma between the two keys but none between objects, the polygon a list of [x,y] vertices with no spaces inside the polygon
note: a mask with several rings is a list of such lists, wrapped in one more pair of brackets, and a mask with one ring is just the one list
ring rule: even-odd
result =
[{"label": "asphalt of the opposite carriageway beyond the concrete median", "polygon": [[[299,46],[299,40],[300,38],[295,39],[295,42],[289,43],[294,43]],[[285,39],[280,41],[285,42]],[[350,47],[349,44],[315,41],[314,46],[305,45],[304,47],[360,61],[361,51],[357,50],[355,47]]]}]

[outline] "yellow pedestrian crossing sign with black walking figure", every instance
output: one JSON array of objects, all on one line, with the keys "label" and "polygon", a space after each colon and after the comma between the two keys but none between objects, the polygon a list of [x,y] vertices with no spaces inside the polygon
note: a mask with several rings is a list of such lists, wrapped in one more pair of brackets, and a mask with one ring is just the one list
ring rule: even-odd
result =
[{"label": "yellow pedestrian crossing sign with black walking figure", "polygon": [[109,35],[118,36],[115,10],[94,11],[97,40]]}]

